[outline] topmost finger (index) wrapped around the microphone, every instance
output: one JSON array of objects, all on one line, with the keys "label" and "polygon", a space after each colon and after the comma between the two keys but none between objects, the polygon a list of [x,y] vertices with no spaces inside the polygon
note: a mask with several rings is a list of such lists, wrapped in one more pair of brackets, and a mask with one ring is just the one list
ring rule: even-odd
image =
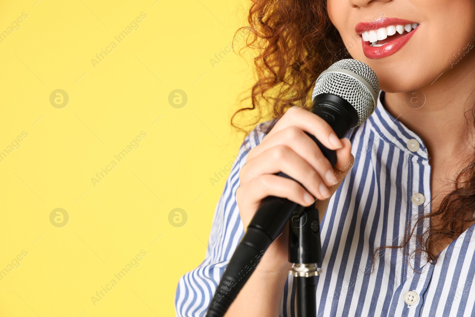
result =
[{"label": "topmost finger (index) wrapped around the microphone", "polygon": [[[304,108],[289,108],[269,134],[277,133],[287,126],[296,126],[313,134],[328,149],[336,150],[343,146],[332,127],[325,120]],[[263,142],[265,142],[264,140]]]}]

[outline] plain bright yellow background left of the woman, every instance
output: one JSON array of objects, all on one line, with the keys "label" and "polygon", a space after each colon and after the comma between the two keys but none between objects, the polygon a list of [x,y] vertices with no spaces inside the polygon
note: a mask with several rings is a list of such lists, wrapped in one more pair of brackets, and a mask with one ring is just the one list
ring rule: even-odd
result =
[{"label": "plain bright yellow background left of the woman", "polygon": [[[204,258],[224,186],[209,179],[242,142],[229,118],[252,85],[251,64],[232,53],[215,67],[210,59],[244,23],[247,3],[0,3],[0,31],[28,14],[0,43],[0,151],[28,133],[0,162],[0,270],[28,252],[0,280],[0,316],[173,316],[178,279]],[[141,12],[139,28],[118,43]],[[56,89],[69,96],[63,108],[50,104]],[[169,104],[174,89],[186,106]],[[141,131],[139,147],[118,162]],[[50,222],[56,208],[69,215],[64,227]],[[169,222],[174,208],[188,215],[182,227]],[[139,266],[116,279],[141,250]],[[94,305],[111,279],[117,285]]]}]

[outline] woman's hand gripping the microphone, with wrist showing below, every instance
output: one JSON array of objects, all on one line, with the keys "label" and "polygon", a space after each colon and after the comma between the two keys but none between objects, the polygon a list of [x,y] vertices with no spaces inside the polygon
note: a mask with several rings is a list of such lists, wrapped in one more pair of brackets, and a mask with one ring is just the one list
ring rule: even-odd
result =
[{"label": "woman's hand gripping the microphone, with wrist showing below", "polygon": [[[336,151],[334,168],[305,132]],[[267,196],[287,198],[302,206],[310,206],[317,200],[317,208],[323,208],[353,162],[350,140],[339,140],[331,126],[318,115],[303,108],[288,109],[261,144],[249,151],[247,162],[239,173],[236,200],[244,228],[247,229],[259,203]],[[275,175],[279,172],[304,187]],[[256,272],[282,273],[284,276],[290,269],[287,234],[285,227],[282,235],[266,250]]]}]

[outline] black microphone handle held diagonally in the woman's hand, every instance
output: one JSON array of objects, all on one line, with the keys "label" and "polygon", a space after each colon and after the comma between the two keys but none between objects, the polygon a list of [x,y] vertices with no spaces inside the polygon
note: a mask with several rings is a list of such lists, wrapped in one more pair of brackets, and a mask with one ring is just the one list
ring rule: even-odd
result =
[{"label": "black microphone handle held diagonally in the woman's hand", "polygon": [[[315,97],[310,110],[328,122],[338,138],[345,136],[358,123],[358,113],[345,99],[332,94]],[[307,133],[308,134],[308,133]],[[332,166],[336,163],[335,151],[327,149],[317,138],[308,134],[319,146]],[[277,175],[292,179],[285,173]],[[304,207],[286,198],[268,196],[259,204],[246,234],[229,260],[228,267],[211,300],[207,317],[223,317],[237,294],[257,267],[269,245],[276,240],[290,216],[300,214]]]}]

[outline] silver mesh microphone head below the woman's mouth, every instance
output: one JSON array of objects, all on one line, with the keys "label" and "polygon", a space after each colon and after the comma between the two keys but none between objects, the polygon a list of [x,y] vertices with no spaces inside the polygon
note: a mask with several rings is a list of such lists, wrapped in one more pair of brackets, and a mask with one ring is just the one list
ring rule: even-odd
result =
[{"label": "silver mesh microphone head below the woman's mouth", "polygon": [[376,109],[379,91],[380,82],[371,67],[356,59],[342,59],[317,78],[312,100],[320,94],[342,97],[356,109],[358,126]]}]

